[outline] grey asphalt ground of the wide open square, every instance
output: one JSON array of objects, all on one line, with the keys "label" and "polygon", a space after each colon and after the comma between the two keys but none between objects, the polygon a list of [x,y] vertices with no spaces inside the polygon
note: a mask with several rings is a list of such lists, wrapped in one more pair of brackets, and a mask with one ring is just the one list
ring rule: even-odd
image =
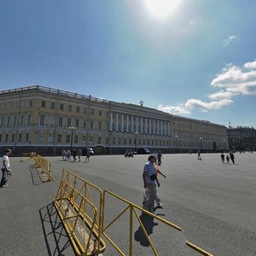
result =
[{"label": "grey asphalt ground of the wide open square", "polygon": [[[158,189],[164,208],[156,212],[180,226],[182,232],[138,213],[159,255],[200,255],[186,247],[185,241],[213,255],[256,255],[256,156],[235,156],[236,165],[222,164],[220,154],[202,154],[201,161],[195,154],[164,155],[160,169],[166,179],[160,177]],[[63,168],[142,205],[146,155],[96,155],[90,157],[89,163],[84,163],[84,157],[82,162],[65,162],[61,157],[48,159],[55,183],[42,183],[28,163],[11,159],[14,174],[9,187],[0,190],[0,255],[73,255],[52,205]],[[121,201],[108,196],[106,220],[123,208]],[[133,228],[134,255],[153,255],[136,221]],[[128,252],[128,214],[108,230],[108,235]],[[107,242],[104,255],[119,253]]]}]

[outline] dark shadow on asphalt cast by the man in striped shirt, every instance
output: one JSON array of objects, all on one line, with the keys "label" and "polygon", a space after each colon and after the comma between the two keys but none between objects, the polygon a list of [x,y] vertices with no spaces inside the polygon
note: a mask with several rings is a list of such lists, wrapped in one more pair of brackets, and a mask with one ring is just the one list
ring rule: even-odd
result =
[{"label": "dark shadow on asphalt cast by the man in striped shirt", "polygon": [[[154,226],[158,225],[158,223],[154,222],[154,218],[149,216],[148,214],[142,213],[141,216],[140,216],[140,219],[143,223],[143,226],[144,226],[148,236],[150,234],[153,234]],[[142,226],[139,226],[137,231],[135,231],[134,239],[136,241],[139,241],[140,244],[143,247],[149,247],[150,246],[150,244],[148,242],[148,239],[147,239],[147,236],[145,236],[145,234],[143,232]]]}]

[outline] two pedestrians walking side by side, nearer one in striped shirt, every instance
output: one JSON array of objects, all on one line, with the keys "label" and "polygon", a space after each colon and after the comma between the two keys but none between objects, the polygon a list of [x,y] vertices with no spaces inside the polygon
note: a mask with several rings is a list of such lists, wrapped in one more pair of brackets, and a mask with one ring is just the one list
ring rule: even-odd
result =
[{"label": "two pedestrians walking side by side, nearer one in striped shirt", "polygon": [[156,158],[154,154],[150,154],[148,157],[148,162],[144,165],[143,168],[143,187],[145,193],[143,196],[143,209],[148,210],[156,215],[154,212],[154,201],[157,203],[157,207],[163,207],[163,204],[160,201],[160,198],[157,195],[156,185],[160,187],[160,182],[158,180],[158,174],[166,178],[166,175],[160,172],[159,165],[157,160],[161,163],[162,155],[160,158]]}]

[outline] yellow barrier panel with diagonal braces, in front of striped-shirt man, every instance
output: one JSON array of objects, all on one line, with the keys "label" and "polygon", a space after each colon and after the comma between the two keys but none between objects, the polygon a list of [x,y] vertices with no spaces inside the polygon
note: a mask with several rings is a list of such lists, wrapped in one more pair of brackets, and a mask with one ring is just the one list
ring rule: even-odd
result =
[{"label": "yellow barrier panel with diagonal braces, in front of striped-shirt man", "polygon": [[[119,215],[116,218],[113,218],[113,220],[110,222],[110,224],[104,226],[104,219],[105,219],[105,204],[106,204],[106,195],[113,195],[113,197],[119,199],[119,201],[123,201],[125,202],[126,205],[128,205],[127,207],[125,207],[125,209],[123,210],[123,212],[119,213]],[[152,214],[151,212],[148,212],[146,210],[144,210],[142,207],[138,207],[137,205],[131,203],[130,201],[125,200],[124,198],[120,197],[119,195],[114,194],[113,192],[110,192],[108,190],[104,190],[103,192],[103,218],[102,218],[102,234],[108,239],[108,241],[110,241],[110,243],[113,245],[113,247],[116,248],[116,250],[120,253],[120,255],[125,256],[126,254],[121,250],[121,248],[108,236],[108,234],[106,233],[106,230],[108,230],[108,228],[118,219],[120,218],[126,211],[129,211],[130,214],[130,234],[129,234],[129,241],[130,241],[130,245],[129,245],[129,255],[133,255],[133,216],[135,215],[137,218],[138,223],[140,224],[140,227],[143,230],[144,235],[146,236],[148,243],[150,245],[150,247],[152,248],[154,255],[158,255],[156,252],[156,249],[154,247],[153,242],[151,241],[150,237],[148,236],[147,230],[143,225],[143,222],[141,221],[141,219],[139,218],[137,211],[140,212],[144,212],[146,214],[148,214],[151,217],[154,217],[158,220],[160,220],[162,223],[168,225],[169,227],[172,227],[178,231],[181,231],[181,228],[179,226],[177,226],[176,224],[172,224],[171,222],[167,221],[164,218],[160,218],[159,216],[155,216],[154,214]]]}]

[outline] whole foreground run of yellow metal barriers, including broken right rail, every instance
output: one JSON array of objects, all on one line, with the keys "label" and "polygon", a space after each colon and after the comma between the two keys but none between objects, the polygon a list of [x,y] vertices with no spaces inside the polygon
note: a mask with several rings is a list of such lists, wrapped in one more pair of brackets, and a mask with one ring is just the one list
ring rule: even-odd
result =
[{"label": "whole foreground run of yellow metal barriers, including broken right rail", "polygon": [[[110,201],[107,197],[110,198]],[[113,204],[114,199],[121,201],[125,208],[121,208],[119,214],[110,214],[110,216],[108,216],[108,212],[106,211],[107,205],[108,207],[111,207],[111,203]],[[73,243],[73,248],[77,255],[97,255],[103,253],[106,250],[106,243],[103,241],[103,237],[109,241],[119,255],[135,255],[133,254],[135,238],[134,219],[137,219],[137,223],[140,225],[140,229],[143,230],[143,235],[148,241],[148,246],[152,249],[153,254],[150,253],[148,255],[160,255],[157,253],[157,248],[150,239],[147,227],[144,226],[138,212],[140,212],[140,214],[143,212],[144,214],[159,220],[160,223],[165,224],[166,228],[172,228],[175,232],[182,231],[178,225],[173,224],[164,218],[160,218],[160,216],[154,215],[153,213],[144,210],[142,207],[138,207],[136,204],[125,200],[111,191],[104,190],[102,192],[102,189],[98,188],[96,185],[89,183],[66,169],[63,169],[62,171],[61,183],[55,196],[55,207],[67,230],[67,235]],[[124,224],[120,218],[125,214],[126,217],[128,215],[128,221],[125,222],[128,239],[125,240],[125,234],[122,234],[122,237],[119,237],[119,239],[127,241],[125,249],[129,251],[128,253],[125,253],[118,242],[114,241],[113,237],[110,237],[109,235],[110,227],[113,224],[117,224],[118,221],[119,224]],[[107,218],[108,224],[106,224]],[[118,232],[115,231],[113,233],[115,234]],[[174,237],[172,237],[172,240],[174,240],[173,238]],[[92,241],[92,239],[94,239],[94,241]],[[183,239],[183,241],[179,242],[183,244],[183,247],[189,247],[201,255],[213,256],[211,253],[207,253],[207,251],[190,241],[185,241],[185,239]]]}]

